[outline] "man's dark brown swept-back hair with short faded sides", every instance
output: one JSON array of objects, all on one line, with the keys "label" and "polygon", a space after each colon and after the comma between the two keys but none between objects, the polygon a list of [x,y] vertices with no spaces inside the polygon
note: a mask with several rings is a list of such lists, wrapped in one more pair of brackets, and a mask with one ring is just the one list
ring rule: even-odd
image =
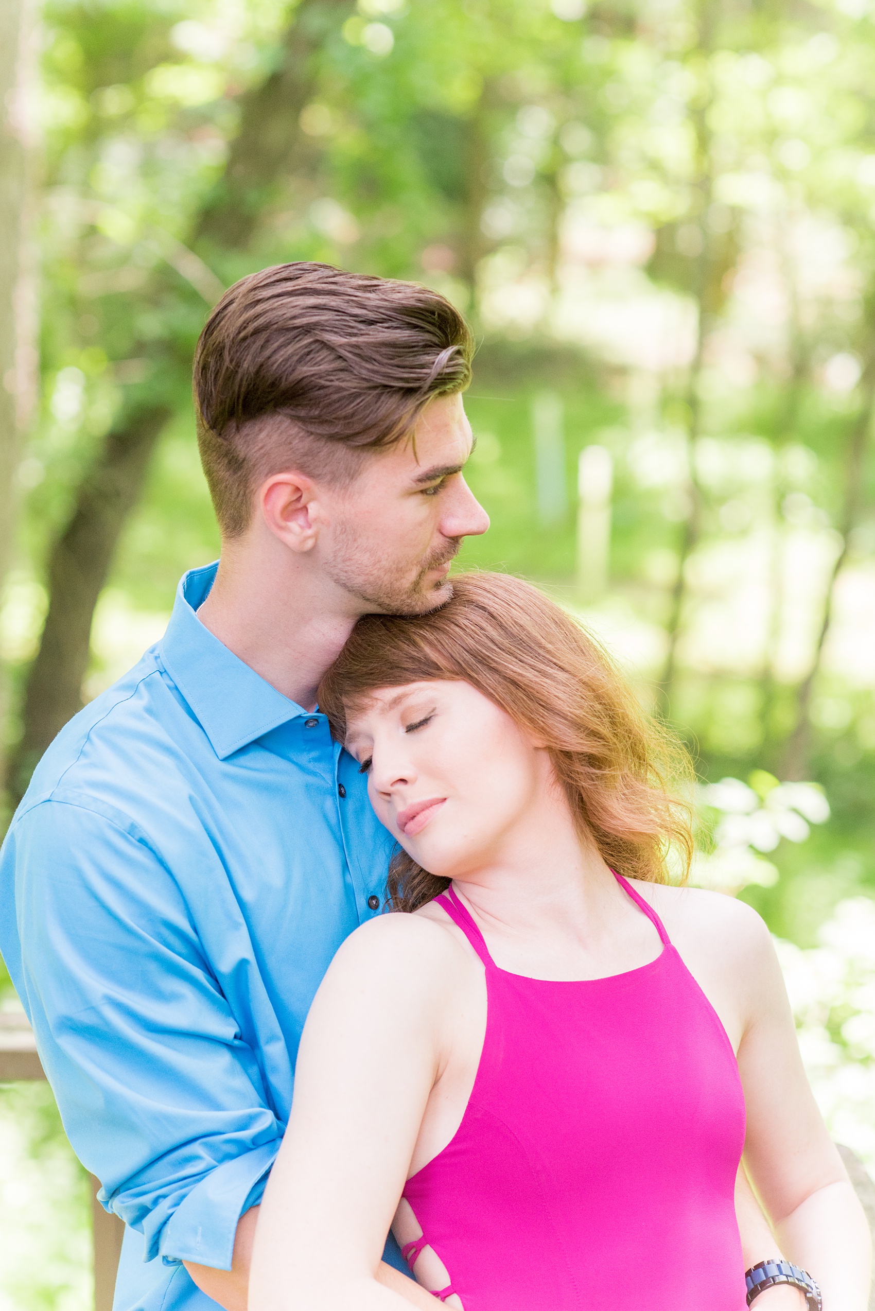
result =
[{"label": "man's dark brown swept-back hair with short faded sides", "polygon": [[412,282],[327,264],[236,282],[194,357],[201,463],[223,534],[245,531],[272,473],[349,481],[428,401],[464,391],[472,354],[458,309]]}]

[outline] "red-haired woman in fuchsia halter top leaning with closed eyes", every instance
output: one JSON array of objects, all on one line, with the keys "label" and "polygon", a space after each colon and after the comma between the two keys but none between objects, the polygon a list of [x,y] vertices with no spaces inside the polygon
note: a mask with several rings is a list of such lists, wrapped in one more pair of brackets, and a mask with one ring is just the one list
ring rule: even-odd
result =
[{"label": "red-haired woman in fuchsia halter top leaning with closed eyes", "polygon": [[[745,1266],[782,1255],[865,1311],[868,1230],[769,933],[668,885],[678,753],[592,638],[463,576],[437,612],[362,619],[320,704],[403,848],[405,914],[314,1002],[253,1311],[743,1311]],[[379,1282],[390,1223],[430,1295]],[[757,1311],[817,1304],[783,1270],[750,1276]]]}]

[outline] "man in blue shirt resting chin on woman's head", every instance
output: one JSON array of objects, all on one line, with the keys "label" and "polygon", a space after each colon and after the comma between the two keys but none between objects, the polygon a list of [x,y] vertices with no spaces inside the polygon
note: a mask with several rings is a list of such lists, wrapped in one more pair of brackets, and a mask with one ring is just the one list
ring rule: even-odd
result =
[{"label": "man in blue shirt resting chin on woman's head", "polygon": [[245,1308],[300,1029],[391,852],[316,687],[359,615],[447,599],[488,527],[462,476],[471,350],[408,283],[298,264],[226,294],[194,370],[218,568],[58,735],[3,846],[0,950],[127,1224],[117,1311]]}]

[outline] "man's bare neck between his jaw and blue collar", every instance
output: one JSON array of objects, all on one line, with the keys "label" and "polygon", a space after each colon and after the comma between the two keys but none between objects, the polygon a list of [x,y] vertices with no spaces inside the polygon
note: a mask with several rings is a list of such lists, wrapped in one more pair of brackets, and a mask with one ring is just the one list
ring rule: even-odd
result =
[{"label": "man's bare neck between his jaw and blue collar", "polygon": [[198,619],[266,683],[310,711],[356,623],[350,600],[327,598],[324,582],[315,587],[307,569],[286,568],[278,577],[262,558],[223,553]]}]

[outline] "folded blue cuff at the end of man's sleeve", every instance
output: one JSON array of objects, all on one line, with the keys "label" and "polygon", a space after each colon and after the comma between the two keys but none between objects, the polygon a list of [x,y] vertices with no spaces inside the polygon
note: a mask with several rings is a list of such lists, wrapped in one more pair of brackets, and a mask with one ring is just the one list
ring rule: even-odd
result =
[{"label": "folded blue cuff at the end of man's sleeve", "polygon": [[[261,1200],[281,1139],[216,1165],[180,1202],[161,1231],[165,1265],[195,1261],[230,1270],[240,1217]],[[148,1257],[147,1257],[148,1259]]]}]

